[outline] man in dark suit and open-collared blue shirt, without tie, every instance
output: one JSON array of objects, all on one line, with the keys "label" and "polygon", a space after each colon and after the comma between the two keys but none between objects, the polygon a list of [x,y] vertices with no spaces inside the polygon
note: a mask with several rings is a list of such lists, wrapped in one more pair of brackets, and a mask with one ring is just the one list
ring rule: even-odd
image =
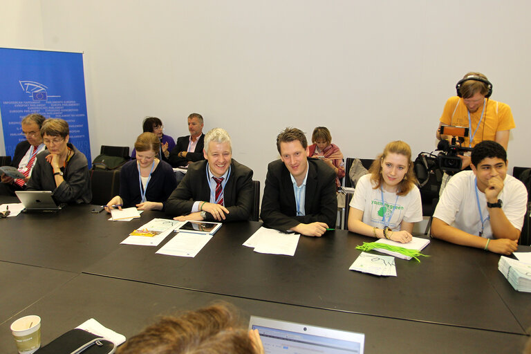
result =
[{"label": "man in dark suit and open-collared blue shirt, without tie", "polygon": [[299,129],[277,136],[280,160],[268,165],[260,216],[267,227],[322,236],[335,227],[335,173],[318,158],[307,158],[306,147]]}]

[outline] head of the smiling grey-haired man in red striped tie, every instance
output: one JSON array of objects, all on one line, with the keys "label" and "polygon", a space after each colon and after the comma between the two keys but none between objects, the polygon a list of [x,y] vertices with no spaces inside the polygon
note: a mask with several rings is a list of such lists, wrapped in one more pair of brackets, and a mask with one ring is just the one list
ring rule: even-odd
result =
[{"label": "head of the smiling grey-haired man in red striped tie", "polygon": [[227,172],[232,159],[230,136],[225,129],[214,128],[205,135],[205,160],[208,160],[210,172],[221,177]]}]

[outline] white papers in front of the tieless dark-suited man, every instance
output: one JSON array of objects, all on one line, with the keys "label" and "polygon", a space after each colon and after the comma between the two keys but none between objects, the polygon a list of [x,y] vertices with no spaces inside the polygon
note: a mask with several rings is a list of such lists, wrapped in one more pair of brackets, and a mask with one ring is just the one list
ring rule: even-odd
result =
[{"label": "white papers in front of the tieless dark-suited man", "polygon": [[254,252],[294,256],[300,236],[299,234],[286,234],[262,226],[243,245],[254,248]]}]

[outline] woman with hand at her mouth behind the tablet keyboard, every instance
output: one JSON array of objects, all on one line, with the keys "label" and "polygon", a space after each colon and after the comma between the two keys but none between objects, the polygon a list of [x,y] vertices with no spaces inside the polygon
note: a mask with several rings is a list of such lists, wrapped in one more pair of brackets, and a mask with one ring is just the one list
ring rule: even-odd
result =
[{"label": "woman with hand at her mouth behind the tablet keyboard", "polygon": [[88,162],[84,154],[68,142],[70,130],[62,119],[47,119],[41,127],[46,150],[28,180],[28,191],[50,191],[57,203],[90,203],[92,199]]}]

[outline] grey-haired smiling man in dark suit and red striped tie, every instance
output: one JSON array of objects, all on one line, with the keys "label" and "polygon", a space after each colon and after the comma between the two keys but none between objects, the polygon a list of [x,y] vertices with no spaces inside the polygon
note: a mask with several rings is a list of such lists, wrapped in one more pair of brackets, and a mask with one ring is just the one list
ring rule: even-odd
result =
[{"label": "grey-haired smiling man in dark suit and red striped tie", "polygon": [[232,159],[230,136],[215,128],[205,136],[206,160],[189,165],[166,202],[175,220],[236,221],[250,218],[252,169]]}]

